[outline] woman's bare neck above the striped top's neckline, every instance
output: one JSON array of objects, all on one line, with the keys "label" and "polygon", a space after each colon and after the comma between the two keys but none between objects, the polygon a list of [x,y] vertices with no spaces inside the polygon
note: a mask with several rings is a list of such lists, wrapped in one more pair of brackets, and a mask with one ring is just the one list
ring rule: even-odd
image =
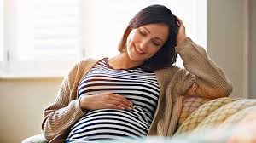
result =
[{"label": "woman's bare neck above the striped top's neckline", "polygon": [[114,69],[129,69],[129,68],[140,66],[143,64],[143,62],[141,61],[138,62],[138,61],[131,60],[129,56],[124,53],[117,54],[113,58],[110,58],[108,60],[108,63]]}]

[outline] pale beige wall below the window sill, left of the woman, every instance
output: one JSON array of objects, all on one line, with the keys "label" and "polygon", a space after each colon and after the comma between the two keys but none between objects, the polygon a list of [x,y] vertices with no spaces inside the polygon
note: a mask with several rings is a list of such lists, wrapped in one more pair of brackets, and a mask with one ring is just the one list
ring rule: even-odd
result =
[{"label": "pale beige wall below the window sill, left of the woman", "polygon": [[18,143],[41,133],[43,110],[54,101],[61,79],[0,79],[0,142]]}]

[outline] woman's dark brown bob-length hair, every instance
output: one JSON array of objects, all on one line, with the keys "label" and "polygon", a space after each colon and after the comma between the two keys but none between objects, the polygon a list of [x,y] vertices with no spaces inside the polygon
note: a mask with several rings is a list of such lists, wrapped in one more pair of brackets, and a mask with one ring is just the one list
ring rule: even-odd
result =
[{"label": "woman's dark brown bob-length hair", "polygon": [[158,70],[168,66],[172,66],[177,60],[177,53],[175,52],[176,37],[177,37],[177,18],[172,14],[171,10],[163,5],[150,5],[139,11],[129,22],[126,27],[123,37],[119,42],[119,51],[125,49],[125,43],[128,35],[132,29],[140,26],[164,23],[169,27],[169,35],[166,43],[160,50],[154,54],[153,57],[146,60],[143,67]]}]

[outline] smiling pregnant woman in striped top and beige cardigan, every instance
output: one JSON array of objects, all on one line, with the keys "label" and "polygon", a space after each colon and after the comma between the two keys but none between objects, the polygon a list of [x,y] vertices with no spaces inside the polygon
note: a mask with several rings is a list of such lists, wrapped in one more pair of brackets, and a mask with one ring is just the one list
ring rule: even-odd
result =
[{"label": "smiling pregnant woman in striped top and beige cardigan", "polygon": [[[173,66],[177,54],[185,69]],[[205,50],[186,37],[182,20],[151,5],[130,21],[118,55],[73,66],[44,110],[42,129],[50,142],[170,136],[182,95],[215,99],[231,90]]]}]

